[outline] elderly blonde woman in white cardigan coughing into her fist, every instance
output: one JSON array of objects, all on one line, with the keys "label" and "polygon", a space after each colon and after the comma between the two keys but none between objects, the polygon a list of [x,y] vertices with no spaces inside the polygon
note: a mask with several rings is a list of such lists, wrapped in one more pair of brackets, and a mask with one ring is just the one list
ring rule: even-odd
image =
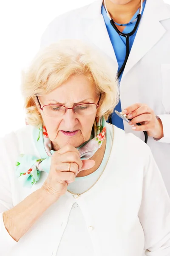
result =
[{"label": "elderly blonde woman in white cardigan coughing into her fist", "polygon": [[105,59],[79,41],[23,76],[29,125],[0,142],[0,255],[170,255],[170,199],[148,146],[105,120]]}]

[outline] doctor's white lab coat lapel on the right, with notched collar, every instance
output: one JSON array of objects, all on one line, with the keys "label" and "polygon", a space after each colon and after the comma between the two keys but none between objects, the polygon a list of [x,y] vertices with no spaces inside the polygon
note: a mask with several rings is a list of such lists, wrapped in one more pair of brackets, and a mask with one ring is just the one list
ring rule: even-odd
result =
[{"label": "doctor's white lab coat lapel on the right, with notched collar", "polygon": [[144,13],[122,79],[164,35],[166,30],[161,25],[160,20],[167,18],[170,18],[170,12],[161,0],[146,1]]}]

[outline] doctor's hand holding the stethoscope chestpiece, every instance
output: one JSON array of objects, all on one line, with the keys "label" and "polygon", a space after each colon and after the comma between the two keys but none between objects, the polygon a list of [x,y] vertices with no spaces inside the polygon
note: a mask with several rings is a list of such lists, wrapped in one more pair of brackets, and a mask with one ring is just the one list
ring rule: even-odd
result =
[{"label": "doctor's hand holding the stethoscope chestpiece", "polygon": [[[128,119],[132,119],[129,122],[130,125],[134,125],[132,130],[147,131],[148,136],[157,140],[164,137],[161,119],[157,119],[153,110],[146,104],[133,104],[123,110],[122,114],[126,114]],[[142,125],[138,126],[136,123],[141,123]]]}]

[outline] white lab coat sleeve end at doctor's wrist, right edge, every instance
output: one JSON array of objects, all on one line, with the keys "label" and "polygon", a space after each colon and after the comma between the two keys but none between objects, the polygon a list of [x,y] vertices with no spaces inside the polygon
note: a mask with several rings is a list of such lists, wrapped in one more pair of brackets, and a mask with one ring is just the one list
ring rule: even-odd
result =
[{"label": "white lab coat sleeve end at doctor's wrist, right edge", "polygon": [[162,122],[163,130],[164,130],[164,137],[160,140],[156,140],[162,143],[170,143],[170,114],[166,115],[157,115]]}]

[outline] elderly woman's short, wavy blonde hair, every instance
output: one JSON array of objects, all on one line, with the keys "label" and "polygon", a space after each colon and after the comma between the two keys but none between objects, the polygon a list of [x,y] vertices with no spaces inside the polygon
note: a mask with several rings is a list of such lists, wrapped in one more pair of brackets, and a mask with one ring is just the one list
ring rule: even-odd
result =
[{"label": "elderly woman's short, wavy blonde hair", "polygon": [[62,40],[42,49],[22,76],[26,122],[40,127],[42,117],[37,109],[36,95],[49,93],[71,76],[84,75],[101,94],[98,116],[113,112],[119,101],[116,72],[98,50],[78,40]]}]

